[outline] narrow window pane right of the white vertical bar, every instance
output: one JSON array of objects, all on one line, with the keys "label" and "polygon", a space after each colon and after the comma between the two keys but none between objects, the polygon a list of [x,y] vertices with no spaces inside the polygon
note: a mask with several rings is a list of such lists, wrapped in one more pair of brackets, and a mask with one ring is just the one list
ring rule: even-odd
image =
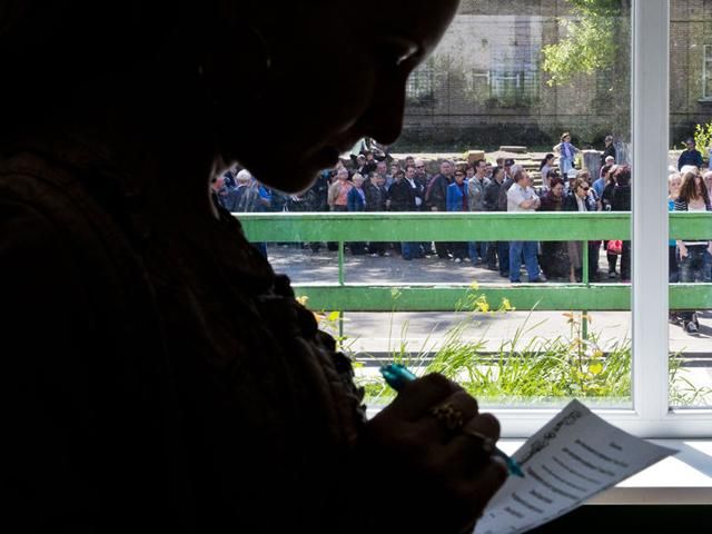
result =
[{"label": "narrow window pane right of the white vertical bar", "polygon": [[712,6],[678,0],[672,12],[669,204],[686,212],[670,226],[670,404],[694,408],[712,405]]}]

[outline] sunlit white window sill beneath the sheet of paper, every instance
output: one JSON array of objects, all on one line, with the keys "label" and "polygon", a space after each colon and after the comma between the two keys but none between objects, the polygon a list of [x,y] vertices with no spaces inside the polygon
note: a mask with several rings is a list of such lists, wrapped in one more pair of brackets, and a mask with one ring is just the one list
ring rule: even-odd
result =
[{"label": "sunlit white window sill beneath the sheet of paper", "polygon": [[[712,503],[712,439],[650,439],[680,451],[589,501],[587,505],[669,505]],[[514,453],[522,439],[501,439]]]}]

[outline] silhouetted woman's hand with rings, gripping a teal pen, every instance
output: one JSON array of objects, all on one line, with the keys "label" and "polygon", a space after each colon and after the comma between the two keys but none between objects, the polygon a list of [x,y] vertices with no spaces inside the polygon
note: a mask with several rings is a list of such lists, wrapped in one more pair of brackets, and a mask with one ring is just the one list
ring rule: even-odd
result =
[{"label": "silhouetted woman's hand with rings, gripping a teal pen", "polygon": [[455,383],[433,374],[407,384],[367,423],[358,446],[358,475],[376,503],[377,512],[364,512],[372,532],[472,530],[507,476],[492,457],[498,437],[497,419],[479,414]]}]

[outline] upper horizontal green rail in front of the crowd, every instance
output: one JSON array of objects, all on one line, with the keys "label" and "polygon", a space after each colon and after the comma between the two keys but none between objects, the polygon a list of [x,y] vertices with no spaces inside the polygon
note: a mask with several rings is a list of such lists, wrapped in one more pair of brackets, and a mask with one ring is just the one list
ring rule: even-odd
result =
[{"label": "upper horizontal green rail in front of the crowd", "polygon": [[[255,241],[630,239],[627,211],[234,214]],[[671,212],[671,237],[709,238],[712,212]]]}]

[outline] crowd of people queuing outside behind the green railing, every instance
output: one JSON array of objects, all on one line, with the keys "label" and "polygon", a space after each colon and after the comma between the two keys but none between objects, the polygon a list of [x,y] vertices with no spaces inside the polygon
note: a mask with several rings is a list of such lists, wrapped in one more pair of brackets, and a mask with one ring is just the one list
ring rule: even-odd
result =
[{"label": "crowd of people queuing outside behind the green railing", "polygon": [[[444,160],[439,164],[439,172],[428,175],[422,159],[406,157],[398,161],[387,152],[363,150],[353,155],[350,161],[340,160],[334,169],[323,171],[300,195],[286,196],[269,190],[249,172],[237,168],[214,180],[214,188],[217,200],[230,211],[629,211],[631,168],[615,164],[613,138],[605,138],[601,168],[595,177],[586,169],[576,169],[574,155],[577,151],[571,145],[571,135],[562,135],[562,142],[538,165],[541,184],[536,187],[530,172],[513,159],[500,158],[494,165],[485,159]],[[557,162],[555,154],[558,154]],[[680,156],[680,171],[670,178],[671,209],[688,175],[700,177],[704,191],[700,198],[708,198],[712,171],[703,172],[705,169],[692,162],[701,166],[702,158],[694,149],[694,140],[689,139],[688,149]],[[563,168],[566,168],[565,174]],[[307,245],[317,251],[324,244],[303,244]],[[332,250],[337,248],[335,243],[326,246]],[[691,246],[700,247],[700,244],[695,241]],[[264,244],[259,247],[266,254]],[[585,257],[582,241],[358,241],[348,243],[347,247],[353,255],[383,257],[395,254],[408,261],[439,258],[472,264],[498,271],[512,283],[521,281],[522,267],[527,281],[582,281]],[[592,240],[587,241],[587,247],[590,280],[630,281],[630,241]],[[671,245],[671,281],[681,280],[680,268],[689,263],[689,256],[681,254],[683,247],[682,241]],[[692,250],[702,261],[698,278],[709,281],[710,250],[699,254],[698,248]],[[601,255],[605,255],[607,271],[599,267]],[[686,278],[691,276],[686,275]],[[684,325],[688,329],[695,327],[688,319]]]}]

